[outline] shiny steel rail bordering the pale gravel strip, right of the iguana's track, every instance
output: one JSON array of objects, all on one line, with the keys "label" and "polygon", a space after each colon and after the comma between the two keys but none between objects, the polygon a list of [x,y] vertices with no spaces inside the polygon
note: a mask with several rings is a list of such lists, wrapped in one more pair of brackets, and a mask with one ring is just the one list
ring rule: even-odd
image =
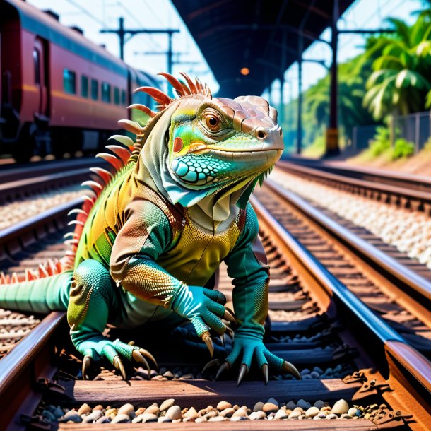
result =
[{"label": "shiny steel rail bordering the pale gravel strip, right of the iguana's track", "polygon": [[386,273],[396,277],[398,281],[401,281],[404,285],[413,289],[426,300],[431,300],[431,283],[426,278],[411,271],[411,269],[403,266],[396,261],[396,259],[377,249],[377,247],[374,247],[369,242],[362,240],[362,238],[336,223],[336,221],[332,220],[327,215],[322,214],[304,199],[300,198],[300,196],[297,196],[291,191],[281,189],[281,187],[272,182],[271,179],[267,179],[265,184],[278,194],[278,196],[281,196],[291,203],[301,213],[314,220],[327,232],[330,232],[333,237],[339,238],[341,242],[348,244],[355,252],[358,252],[361,256],[365,256],[368,260],[379,266],[379,268],[382,268]]}]

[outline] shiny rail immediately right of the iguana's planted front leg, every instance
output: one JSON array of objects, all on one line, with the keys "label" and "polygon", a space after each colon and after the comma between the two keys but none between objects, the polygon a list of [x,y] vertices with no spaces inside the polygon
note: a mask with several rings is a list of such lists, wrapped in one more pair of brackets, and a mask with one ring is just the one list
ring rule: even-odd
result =
[{"label": "shiny rail immediately right of the iguana's planted front leg", "polygon": [[[268,184],[268,183],[266,183]],[[290,235],[289,232],[264,208],[264,206],[252,196],[250,199],[256,214],[258,215],[261,225],[264,225],[264,231],[271,235],[277,242],[283,244],[290,254],[295,256],[297,261],[308,273],[311,273],[321,288],[336,300],[336,304],[341,305],[348,311],[351,317],[355,317],[362,328],[379,339],[384,345],[386,352],[395,358],[406,370],[409,380],[420,386],[426,394],[425,400],[431,399],[431,362],[409,344],[394,329],[391,328],[384,320],[374,314],[358,297],[333,276],[312,254],[298,241]],[[429,401],[427,401],[429,403]]]}]

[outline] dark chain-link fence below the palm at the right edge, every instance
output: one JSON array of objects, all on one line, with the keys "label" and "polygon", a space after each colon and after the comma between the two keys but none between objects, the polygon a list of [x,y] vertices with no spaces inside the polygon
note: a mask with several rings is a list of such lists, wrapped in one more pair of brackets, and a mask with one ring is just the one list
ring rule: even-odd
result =
[{"label": "dark chain-link fence below the palm at the right edge", "polygon": [[[415,146],[415,153],[421,150],[431,136],[430,112],[415,112],[415,114],[397,115],[392,117],[390,123],[391,145],[403,138]],[[370,146],[370,141],[377,133],[377,127],[382,124],[372,124],[370,126],[353,127],[352,147],[353,150],[362,150]]]}]

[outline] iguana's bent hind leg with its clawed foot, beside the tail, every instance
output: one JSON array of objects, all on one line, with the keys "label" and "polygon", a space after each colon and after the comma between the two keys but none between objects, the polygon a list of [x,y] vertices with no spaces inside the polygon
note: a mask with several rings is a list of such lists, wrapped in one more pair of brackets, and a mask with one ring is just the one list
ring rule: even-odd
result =
[{"label": "iguana's bent hind leg with its clawed foot, beside the tail", "polygon": [[155,362],[153,355],[137,346],[122,341],[110,341],[102,336],[108,315],[118,309],[118,288],[110,272],[100,262],[88,259],[79,264],[73,273],[67,321],[71,327],[71,339],[76,349],[84,355],[83,379],[92,360],[107,358],[119,370],[124,379],[126,373],[121,356],[142,362],[150,367],[144,356]]}]

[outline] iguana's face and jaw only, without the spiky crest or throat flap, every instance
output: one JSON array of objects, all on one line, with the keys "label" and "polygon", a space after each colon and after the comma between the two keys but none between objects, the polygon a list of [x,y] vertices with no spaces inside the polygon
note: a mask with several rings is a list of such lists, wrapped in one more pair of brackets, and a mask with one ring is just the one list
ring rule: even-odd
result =
[{"label": "iguana's face and jaw only, without the spiky crest or throat flap", "polygon": [[187,98],[172,114],[168,148],[172,175],[184,187],[223,187],[273,167],[283,138],[263,98]]}]

